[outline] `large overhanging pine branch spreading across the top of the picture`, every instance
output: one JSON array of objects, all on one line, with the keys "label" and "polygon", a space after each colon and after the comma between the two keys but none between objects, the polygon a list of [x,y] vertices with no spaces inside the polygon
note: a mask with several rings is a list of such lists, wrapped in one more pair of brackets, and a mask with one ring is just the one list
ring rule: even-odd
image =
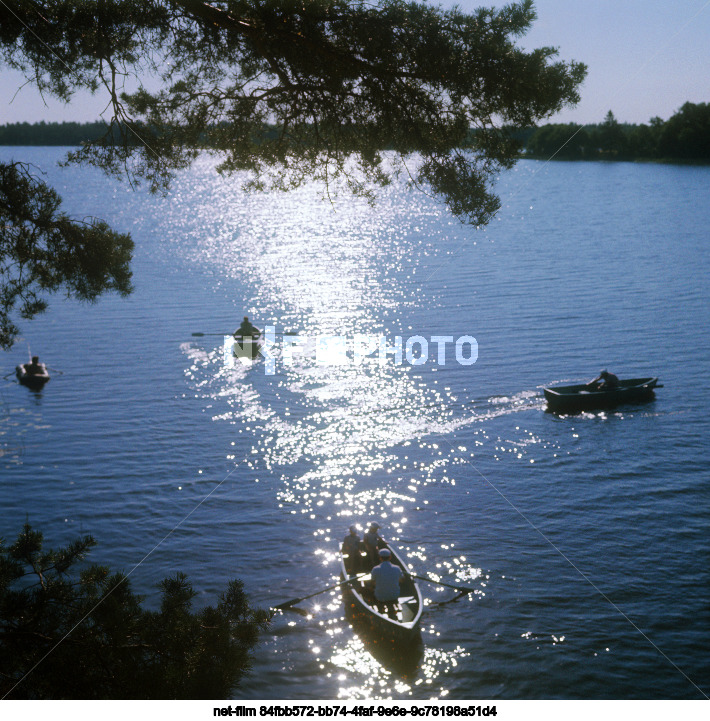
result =
[{"label": "large overhanging pine branch spreading across the top of the picture", "polygon": [[[104,93],[103,134],[68,158],[152,190],[208,147],[248,188],[315,179],[372,199],[404,174],[485,224],[520,150],[509,128],[576,103],[586,73],[516,45],[534,19],[532,0],[471,14],[404,0],[14,0],[0,3],[0,60],[45,94]],[[5,323],[5,347],[16,331]]]}]

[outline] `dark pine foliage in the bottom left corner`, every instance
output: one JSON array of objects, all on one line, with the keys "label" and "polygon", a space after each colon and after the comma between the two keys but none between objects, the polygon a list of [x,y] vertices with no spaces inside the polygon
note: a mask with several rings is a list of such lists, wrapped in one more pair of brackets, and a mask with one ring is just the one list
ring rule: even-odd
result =
[{"label": "dark pine foliage in the bottom left corner", "polygon": [[80,563],[95,545],[85,536],[45,550],[28,524],[0,544],[0,698],[228,698],[268,624],[241,582],[194,611],[176,573],[147,611],[126,576]]}]

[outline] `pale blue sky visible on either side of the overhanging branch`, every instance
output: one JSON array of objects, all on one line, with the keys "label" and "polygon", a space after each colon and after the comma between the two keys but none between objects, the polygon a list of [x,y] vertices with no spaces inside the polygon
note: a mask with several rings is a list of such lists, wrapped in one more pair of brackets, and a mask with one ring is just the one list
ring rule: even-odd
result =
[{"label": "pale blue sky visible on either side of the overhanging branch", "polygon": [[[497,0],[437,2],[463,10],[502,7]],[[685,102],[710,102],[710,0],[537,0],[538,19],[518,42],[552,46],[562,60],[588,66],[581,102],[545,122],[600,123],[611,110],[619,122],[667,120]],[[88,122],[106,100],[75,95],[65,105],[44,100],[23,78],[0,66],[0,124]]]}]

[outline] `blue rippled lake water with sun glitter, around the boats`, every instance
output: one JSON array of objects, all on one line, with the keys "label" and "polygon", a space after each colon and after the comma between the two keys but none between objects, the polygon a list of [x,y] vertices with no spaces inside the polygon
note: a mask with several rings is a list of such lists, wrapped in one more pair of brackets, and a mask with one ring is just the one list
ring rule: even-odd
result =
[{"label": "blue rippled lake water with sun glitter, around the boats", "polygon": [[[156,197],[63,153],[0,149],[132,234],[135,292],[57,297],[2,354],[61,373],[0,385],[0,536],[90,533],[148,604],[180,570],[200,604],[238,577],[269,606],[337,583],[348,526],[377,521],[415,573],[475,589],[421,584],[407,669],[338,589],[308,599],[242,699],[710,694],[710,168],[521,161],[477,230],[402,183],[374,207],[245,195],[205,157]],[[272,372],[225,364],[243,315],[275,328]],[[356,363],[360,336],[402,357]],[[543,386],[601,368],[663,388],[545,412]]]}]

